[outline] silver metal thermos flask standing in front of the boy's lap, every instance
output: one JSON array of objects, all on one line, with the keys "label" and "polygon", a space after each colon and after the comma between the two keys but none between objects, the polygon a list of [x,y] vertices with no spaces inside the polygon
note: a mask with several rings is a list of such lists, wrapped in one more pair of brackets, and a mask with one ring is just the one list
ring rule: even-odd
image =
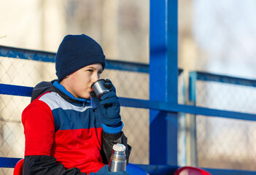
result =
[{"label": "silver metal thermos flask standing in front of the boy's lap", "polygon": [[125,145],[115,144],[111,158],[109,160],[109,171],[125,171],[126,170],[126,158],[125,158]]}]

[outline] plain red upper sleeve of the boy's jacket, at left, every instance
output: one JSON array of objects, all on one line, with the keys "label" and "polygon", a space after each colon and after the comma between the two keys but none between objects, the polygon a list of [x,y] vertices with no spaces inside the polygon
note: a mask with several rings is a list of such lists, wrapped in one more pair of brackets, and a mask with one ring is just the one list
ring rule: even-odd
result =
[{"label": "plain red upper sleeve of the boy's jacket, at left", "polygon": [[50,155],[55,126],[53,113],[43,101],[35,100],[24,109],[25,156]]}]

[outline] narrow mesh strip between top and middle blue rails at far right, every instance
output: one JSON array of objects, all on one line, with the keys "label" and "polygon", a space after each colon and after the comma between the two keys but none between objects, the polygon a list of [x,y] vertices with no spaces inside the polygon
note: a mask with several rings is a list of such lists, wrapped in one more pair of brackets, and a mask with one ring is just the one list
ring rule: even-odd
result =
[{"label": "narrow mesh strip between top and middle blue rails at far right", "polygon": [[196,82],[196,105],[255,113],[256,88],[221,82]]}]

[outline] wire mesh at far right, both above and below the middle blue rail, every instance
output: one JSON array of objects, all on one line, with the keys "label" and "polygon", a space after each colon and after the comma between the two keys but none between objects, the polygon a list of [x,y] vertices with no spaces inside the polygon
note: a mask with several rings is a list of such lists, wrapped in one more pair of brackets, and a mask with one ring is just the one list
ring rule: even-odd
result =
[{"label": "wire mesh at far right, both above and below the middle blue rail", "polygon": [[[196,82],[196,105],[255,113],[256,88]],[[256,170],[256,122],[198,115],[198,166]]]}]

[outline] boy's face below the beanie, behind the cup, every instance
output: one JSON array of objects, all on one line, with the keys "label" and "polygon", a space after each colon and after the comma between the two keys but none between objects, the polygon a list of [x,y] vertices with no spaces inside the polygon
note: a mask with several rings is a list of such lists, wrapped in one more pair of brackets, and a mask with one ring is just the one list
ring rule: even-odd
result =
[{"label": "boy's face below the beanie, behind the cup", "polygon": [[75,98],[90,98],[90,85],[100,78],[102,71],[101,63],[85,66],[63,79],[61,85]]}]

